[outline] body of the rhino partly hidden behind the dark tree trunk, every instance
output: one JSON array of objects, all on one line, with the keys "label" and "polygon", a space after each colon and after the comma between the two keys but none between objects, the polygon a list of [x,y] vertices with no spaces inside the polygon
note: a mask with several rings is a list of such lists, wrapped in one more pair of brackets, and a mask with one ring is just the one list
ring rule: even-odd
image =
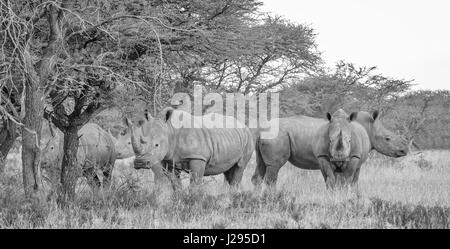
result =
[{"label": "body of the rhino partly hidden behind the dark tree trunk", "polygon": [[[50,181],[58,182],[64,155],[62,132],[52,132],[52,137],[42,151],[41,167],[48,172]],[[116,160],[114,137],[94,123],[84,125],[79,131],[77,165],[93,188],[108,187]]]}]

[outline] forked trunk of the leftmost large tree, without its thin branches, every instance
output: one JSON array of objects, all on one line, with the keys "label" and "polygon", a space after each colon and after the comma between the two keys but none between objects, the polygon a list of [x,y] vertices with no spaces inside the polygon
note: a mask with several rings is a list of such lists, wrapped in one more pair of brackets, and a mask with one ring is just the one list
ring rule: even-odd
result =
[{"label": "forked trunk of the leftmost large tree, without its thin branches", "polygon": [[[62,3],[64,4],[64,2]],[[25,73],[25,115],[22,126],[22,173],[25,196],[41,194],[40,140],[44,112],[45,87],[53,72],[61,45],[59,19],[62,11],[53,5],[48,10],[48,46],[43,50],[42,59],[34,64],[30,51],[24,52]],[[36,70],[38,69],[38,70]],[[23,111],[23,110],[22,110]],[[42,200],[42,195],[38,195]]]}]

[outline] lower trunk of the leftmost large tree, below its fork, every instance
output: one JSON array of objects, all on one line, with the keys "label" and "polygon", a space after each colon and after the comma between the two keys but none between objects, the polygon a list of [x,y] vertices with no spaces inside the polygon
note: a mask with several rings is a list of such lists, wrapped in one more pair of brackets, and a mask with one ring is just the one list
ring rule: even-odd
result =
[{"label": "lower trunk of the leftmost large tree, below its fork", "polygon": [[25,196],[38,194],[41,187],[40,139],[44,103],[43,89],[35,84],[26,86],[25,117],[22,127],[22,174]]}]

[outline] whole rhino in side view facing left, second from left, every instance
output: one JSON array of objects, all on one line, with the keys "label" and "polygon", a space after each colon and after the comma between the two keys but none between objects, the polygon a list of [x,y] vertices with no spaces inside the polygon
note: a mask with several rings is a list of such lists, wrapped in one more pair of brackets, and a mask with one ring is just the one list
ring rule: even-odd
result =
[{"label": "whole rhino in side view facing left, second from left", "polygon": [[[224,127],[233,124],[238,128],[211,128],[203,121],[211,120],[212,115],[223,118]],[[181,124],[180,117],[182,122],[192,118],[193,126]],[[198,125],[201,121],[204,126]],[[148,115],[135,126],[128,119],[125,124],[131,131],[135,169],[151,168],[155,181],[164,175],[164,165],[173,165],[190,171],[191,183],[199,183],[203,176],[223,173],[230,185],[237,186],[254,149],[252,134],[245,125],[217,113],[197,117],[168,107],[160,118]]]}]

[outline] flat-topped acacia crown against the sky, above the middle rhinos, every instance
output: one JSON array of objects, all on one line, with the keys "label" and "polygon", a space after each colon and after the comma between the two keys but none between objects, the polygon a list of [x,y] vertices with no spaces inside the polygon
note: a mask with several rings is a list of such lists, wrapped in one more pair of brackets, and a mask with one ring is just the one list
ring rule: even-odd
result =
[{"label": "flat-topped acacia crown against the sky, above the middle rhinos", "polygon": [[314,30],[265,16],[239,33],[233,53],[206,67],[209,85],[234,92],[264,92],[318,71]]}]

